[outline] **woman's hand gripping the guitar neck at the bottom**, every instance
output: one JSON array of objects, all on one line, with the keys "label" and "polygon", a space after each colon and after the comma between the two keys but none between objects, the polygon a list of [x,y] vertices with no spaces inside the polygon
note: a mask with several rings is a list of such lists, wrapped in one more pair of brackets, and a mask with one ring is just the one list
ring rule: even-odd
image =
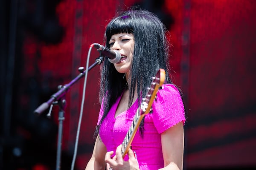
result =
[{"label": "woman's hand gripping the guitar neck at the bottom", "polygon": [[125,161],[122,158],[121,152],[122,145],[116,148],[116,155],[111,159],[113,151],[107,152],[105,155],[105,162],[107,163],[107,170],[112,168],[113,170],[140,170],[137,159],[134,156],[134,152],[130,149],[128,151],[129,160]]}]

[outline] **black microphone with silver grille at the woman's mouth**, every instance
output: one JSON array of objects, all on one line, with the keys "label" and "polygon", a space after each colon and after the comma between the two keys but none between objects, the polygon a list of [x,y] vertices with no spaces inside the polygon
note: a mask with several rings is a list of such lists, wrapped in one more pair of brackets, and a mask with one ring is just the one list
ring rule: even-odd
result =
[{"label": "black microphone with silver grille at the woman's mouth", "polygon": [[110,50],[108,47],[104,47],[103,45],[100,45],[98,43],[93,43],[93,46],[101,52],[101,54],[108,57],[108,61],[111,63],[116,63],[121,60],[121,54],[119,51],[116,50]]}]

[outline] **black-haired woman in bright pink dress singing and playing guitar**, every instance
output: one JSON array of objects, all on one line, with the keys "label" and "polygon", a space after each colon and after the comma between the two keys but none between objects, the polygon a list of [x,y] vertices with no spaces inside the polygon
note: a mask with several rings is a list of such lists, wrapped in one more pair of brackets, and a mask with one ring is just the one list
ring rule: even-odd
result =
[{"label": "black-haired woman in bright pink dress singing and playing guitar", "polygon": [[[105,59],[101,68],[96,142],[85,170],[183,169],[185,111],[180,89],[170,78],[166,35],[161,21],[142,9],[117,13],[108,23],[106,47],[119,51],[121,58],[116,63]],[[120,144],[160,68],[166,71],[163,89],[123,158]]]}]

